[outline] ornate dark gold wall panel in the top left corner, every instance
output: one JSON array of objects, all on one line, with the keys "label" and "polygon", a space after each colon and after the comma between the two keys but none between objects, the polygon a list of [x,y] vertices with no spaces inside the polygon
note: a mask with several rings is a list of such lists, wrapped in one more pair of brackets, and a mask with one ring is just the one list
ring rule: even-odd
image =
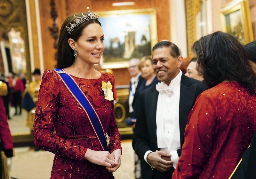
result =
[{"label": "ornate dark gold wall panel in the top left corner", "polygon": [[11,28],[20,31],[25,42],[27,77],[31,76],[25,0],[0,0],[0,32],[7,37]]}]

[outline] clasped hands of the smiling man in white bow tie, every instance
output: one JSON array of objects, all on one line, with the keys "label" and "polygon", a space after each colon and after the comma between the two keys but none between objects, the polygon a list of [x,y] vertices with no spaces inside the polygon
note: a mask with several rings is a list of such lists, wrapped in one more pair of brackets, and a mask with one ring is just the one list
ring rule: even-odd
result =
[{"label": "clasped hands of the smiling man in white bow tie", "polygon": [[161,156],[171,157],[171,155],[166,151],[157,150],[156,152],[151,152],[148,154],[147,161],[157,170],[166,172],[172,167],[173,161],[166,161],[162,159]]}]

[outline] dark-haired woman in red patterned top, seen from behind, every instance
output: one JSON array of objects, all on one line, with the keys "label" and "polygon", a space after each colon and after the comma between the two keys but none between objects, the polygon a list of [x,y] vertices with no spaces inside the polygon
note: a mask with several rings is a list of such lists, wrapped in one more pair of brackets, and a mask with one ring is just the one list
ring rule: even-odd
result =
[{"label": "dark-haired woman in red patterned top, seen from behind", "polygon": [[202,37],[192,50],[212,88],[189,114],[172,179],[228,179],[256,130],[256,74],[243,46],[225,32]]}]

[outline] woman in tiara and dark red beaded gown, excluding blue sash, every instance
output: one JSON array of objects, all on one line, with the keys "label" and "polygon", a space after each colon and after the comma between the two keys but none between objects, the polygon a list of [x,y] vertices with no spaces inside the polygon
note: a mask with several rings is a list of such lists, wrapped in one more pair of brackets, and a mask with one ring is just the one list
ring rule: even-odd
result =
[{"label": "woman in tiara and dark red beaded gown, excluding blue sash", "polygon": [[94,64],[100,63],[103,40],[96,13],[88,11],[68,17],[60,30],[57,68],[62,68],[73,78],[96,111],[104,132],[110,136],[108,151],[100,146],[85,111],[56,71],[45,70],[43,74],[34,136],[37,147],[55,154],[52,179],[112,179],[112,172],[120,166],[121,137],[114,104],[112,99],[106,99],[101,88],[102,82],[108,81],[113,87],[114,76],[93,68]]}]

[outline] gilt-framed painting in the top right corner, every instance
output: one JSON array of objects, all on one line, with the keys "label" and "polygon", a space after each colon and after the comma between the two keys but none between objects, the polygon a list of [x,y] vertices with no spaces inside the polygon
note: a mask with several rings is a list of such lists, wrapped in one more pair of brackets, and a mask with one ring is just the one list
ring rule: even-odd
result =
[{"label": "gilt-framed painting in the top right corner", "polygon": [[233,0],[221,8],[223,30],[233,35],[242,45],[253,40],[248,0]]}]

